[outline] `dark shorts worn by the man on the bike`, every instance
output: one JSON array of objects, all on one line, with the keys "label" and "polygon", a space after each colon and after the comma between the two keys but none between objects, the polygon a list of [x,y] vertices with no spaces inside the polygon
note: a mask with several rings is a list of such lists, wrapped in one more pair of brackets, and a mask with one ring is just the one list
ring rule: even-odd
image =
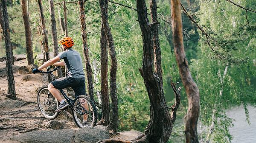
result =
[{"label": "dark shorts worn by the man on the bike", "polygon": [[84,78],[63,77],[52,81],[51,83],[56,89],[59,90],[71,87],[74,90],[76,97],[78,95],[86,95]]}]

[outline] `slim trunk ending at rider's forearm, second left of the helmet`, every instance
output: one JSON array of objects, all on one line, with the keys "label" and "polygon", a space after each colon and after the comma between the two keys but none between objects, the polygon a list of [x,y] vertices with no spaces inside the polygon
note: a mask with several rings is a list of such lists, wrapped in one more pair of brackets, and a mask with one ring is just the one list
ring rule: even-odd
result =
[{"label": "slim trunk ending at rider's forearm, second left of the helmet", "polygon": [[39,7],[39,12],[40,12],[40,19],[41,19],[41,26],[42,26],[42,34],[43,34],[43,45],[44,45],[44,53],[46,60],[48,61],[50,59],[49,56],[49,50],[48,50],[48,38],[47,38],[47,33],[45,29],[45,23],[44,23],[44,11],[42,7],[42,0],[38,0],[38,7]]}]

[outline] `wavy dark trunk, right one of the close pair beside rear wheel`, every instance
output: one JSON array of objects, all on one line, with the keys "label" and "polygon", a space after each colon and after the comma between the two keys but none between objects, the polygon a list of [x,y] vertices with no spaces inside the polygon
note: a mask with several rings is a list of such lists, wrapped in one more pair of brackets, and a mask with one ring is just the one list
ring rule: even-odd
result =
[{"label": "wavy dark trunk, right one of the close pair beside rear wheel", "polygon": [[117,60],[116,51],[111,34],[111,29],[108,24],[108,0],[99,0],[102,14],[102,24],[105,31],[105,35],[108,41],[108,51],[111,57],[111,68],[110,68],[110,95],[112,101],[112,117],[108,129],[113,129],[116,132],[118,127],[118,99],[116,95],[116,71],[117,71]]}]

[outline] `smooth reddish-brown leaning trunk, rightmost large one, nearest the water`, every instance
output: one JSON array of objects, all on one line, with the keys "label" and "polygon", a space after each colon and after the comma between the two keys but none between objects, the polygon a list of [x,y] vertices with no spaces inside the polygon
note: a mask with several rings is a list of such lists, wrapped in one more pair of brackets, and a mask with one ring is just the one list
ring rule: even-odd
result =
[{"label": "smooth reddish-brown leaning trunk, rightmost large one, nearest the water", "polygon": [[192,79],[184,51],[180,0],[171,0],[171,13],[174,51],[179,67],[180,77],[185,87],[189,104],[187,115],[184,118],[186,143],[198,143],[197,121],[200,109],[199,90],[195,81]]}]

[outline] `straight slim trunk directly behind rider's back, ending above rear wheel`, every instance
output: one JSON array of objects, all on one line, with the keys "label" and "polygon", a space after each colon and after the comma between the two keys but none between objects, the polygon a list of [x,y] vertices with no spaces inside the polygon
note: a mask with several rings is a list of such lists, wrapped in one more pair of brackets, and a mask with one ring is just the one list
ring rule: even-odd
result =
[{"label": "straight slim trunk directly behind rider's back, ending above rear wheel", "polygon": [[86,76],[87,76],[87,90],[89,93],[90,99],[94,102],[93,96],[93,76],[92,76],[92,67],[90,64],[89,50],[87,46],[87,34],[86,34],[86,23],[85,23],[85,14],[84,14],[84,0],[79,0],[79,8],[80,8],[80,20],[81,20],[81,35],[83,40],[83,53],[84,53],[84,62],[86,68]]}]

